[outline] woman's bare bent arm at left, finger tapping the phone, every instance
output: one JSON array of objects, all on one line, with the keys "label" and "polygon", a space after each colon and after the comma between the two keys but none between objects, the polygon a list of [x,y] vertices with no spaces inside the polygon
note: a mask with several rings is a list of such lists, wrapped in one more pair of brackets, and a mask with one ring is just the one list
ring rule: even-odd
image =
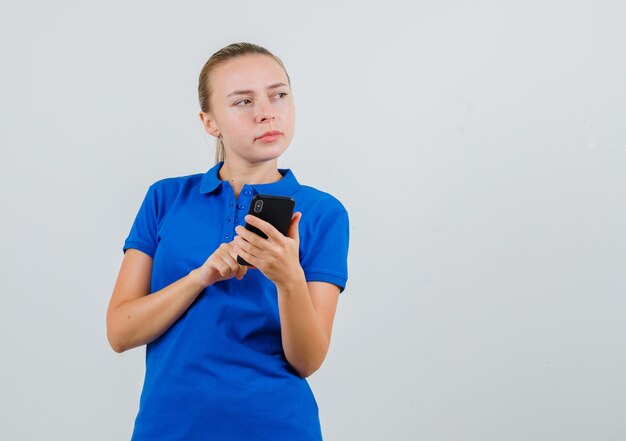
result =
[{"label": "woman's bare bent arm at left, finger tapping the phone", "polygon": [[124,352],[157,339],[204,288],[231,277],[241,279],[246,267],[239,266],[236,257],[231,244],[223,243],[200,268],[148,295],[152,258],[128,249],[107,310],[107,338],[113,350]]}]

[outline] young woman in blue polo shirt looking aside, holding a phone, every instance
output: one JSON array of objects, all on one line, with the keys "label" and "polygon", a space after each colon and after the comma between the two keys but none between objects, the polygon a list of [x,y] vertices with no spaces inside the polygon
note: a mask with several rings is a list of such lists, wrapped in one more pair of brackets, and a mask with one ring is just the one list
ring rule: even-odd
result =
[{"label": "young woman in blue polo shirt looking aside, holding a phone", "polygon": [[[116,352],[147,345],[132,439],[321,440],[306,377],[326,357],[347,280],[347,212],[278,168],[295,120],[278,57],[229,45],[198,92],[217,164],[149,186],[107,311]],[[287,236],[247,216],[255,194],[295,200]]]}]

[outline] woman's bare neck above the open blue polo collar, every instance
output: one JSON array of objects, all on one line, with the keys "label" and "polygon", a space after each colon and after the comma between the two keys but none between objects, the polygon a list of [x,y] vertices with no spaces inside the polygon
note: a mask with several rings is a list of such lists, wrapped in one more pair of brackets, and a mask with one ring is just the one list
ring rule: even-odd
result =
[{"label": "woman's bare neck above the open blue polo collar", "polygon": [[219,178],[230,183],[235,197],[239,197],[244,184],[269,184],[282,177],[278,171],[278,159],[257,164],[226,159],[219,171]]}]

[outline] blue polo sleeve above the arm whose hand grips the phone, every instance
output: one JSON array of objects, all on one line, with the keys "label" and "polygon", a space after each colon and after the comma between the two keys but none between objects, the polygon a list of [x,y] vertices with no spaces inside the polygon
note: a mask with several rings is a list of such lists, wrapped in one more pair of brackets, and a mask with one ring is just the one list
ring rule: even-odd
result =
[{"label": "blue polo sleeve above the arm whose hand grips the phone", "polygon": [[307,282],[328,282],[343,292],[348,280],[350,226],[345,208],[314,219],[314,231],[300,264]]}]

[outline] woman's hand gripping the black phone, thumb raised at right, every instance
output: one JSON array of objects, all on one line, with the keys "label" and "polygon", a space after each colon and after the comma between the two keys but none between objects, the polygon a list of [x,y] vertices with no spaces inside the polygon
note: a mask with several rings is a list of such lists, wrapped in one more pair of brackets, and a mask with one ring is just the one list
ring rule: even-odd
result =
[{"label": "woman's hand gripping the black phone, thumb raised at right", "polygon": [[235,231],[238,236],[233,240],[235,251],[275,284],[288,284],[292,280],[302,277],[300,235],[298,233],[298,224],[301,218],[302,213],[294,213],[291,217],[287,236],[283,236],[269,222],[249,214],[245,218],[246,222],[264,232],[267,239],[242,226],[237,226]]}]

